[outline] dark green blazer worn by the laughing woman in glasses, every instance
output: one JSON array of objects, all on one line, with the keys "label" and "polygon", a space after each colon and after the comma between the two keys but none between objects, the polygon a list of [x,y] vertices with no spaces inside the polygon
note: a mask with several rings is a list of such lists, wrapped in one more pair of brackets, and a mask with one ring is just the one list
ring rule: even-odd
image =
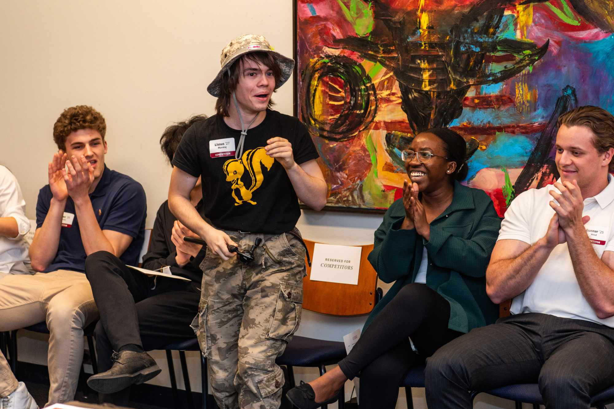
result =
[{"label": "dark green blazer worn by the laughing woman in glasses", "polygon": [[469,332],[495,322],[499,308],[486,295],[485,276],[501,222],[491,198],[455,181],[452,203],[430,223],[429,241],[415,229],[400,230],[403,219],[400,198],[392,203],[375,232],[368,260],[379,279],[395,283],[373,308],[363,331],[405,284],[414,282],[423,247],[429,255],[426,285],[450,303],[448,328]]}]

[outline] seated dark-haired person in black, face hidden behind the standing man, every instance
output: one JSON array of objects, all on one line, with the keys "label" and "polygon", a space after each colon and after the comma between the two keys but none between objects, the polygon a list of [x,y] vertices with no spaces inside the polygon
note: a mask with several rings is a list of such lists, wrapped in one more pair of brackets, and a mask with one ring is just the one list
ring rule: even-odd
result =
[{"label": "seated dark-haired person in black, face hidden behind the standing man", "polygon": [[[206,116],[197,115],[166,128],[160,147],[169,163],[185,131],[205,119]],[[190,202],[199,214],[203,212],[202,197],[199,179],[190,192]],[[198,266],[204,251],[199,244],[185,242],[184,236],[198,237],[177,221],[165,201],[153,223],[149,252],[143,257],[142,268],[161,270],[168,266],[173,275],[191,282],[162,277],[154,280],[104,251],[90,255],[85,263],[85,274],[100,312],[96,325],[100,372],[88,379],[88,385],[103,394],[124,390],[107,395],[106,402],[127,403],[128,386],[160,373],[155,360],[145,351],[194,337],[190,323],[198,313],[203,278]]]}]

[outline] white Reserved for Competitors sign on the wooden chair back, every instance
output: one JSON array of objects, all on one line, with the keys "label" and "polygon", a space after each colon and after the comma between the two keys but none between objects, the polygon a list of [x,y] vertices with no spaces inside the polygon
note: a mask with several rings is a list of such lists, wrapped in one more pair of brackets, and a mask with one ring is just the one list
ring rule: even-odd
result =
[{"label": "white Reserved for Competitors sign on the wooden chair back", "polygon": [[316,243],[311,262],[312,281],[358,284],[362,247]]}]

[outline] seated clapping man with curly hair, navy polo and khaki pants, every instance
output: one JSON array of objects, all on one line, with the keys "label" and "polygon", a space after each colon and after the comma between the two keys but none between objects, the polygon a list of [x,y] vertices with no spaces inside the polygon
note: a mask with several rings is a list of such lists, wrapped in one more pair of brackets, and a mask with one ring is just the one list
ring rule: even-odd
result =
[{"label": "seated clapping man with curly hair, navy polo and khaki pants", "polygon": [[[85,257],[106,250],[134,264],[143,244],[145,192],[139,182],[104,165],[105,133],[103,115],[90,106],[70,107],[56,120],[53,140],[59,150],[49,162],[49,184],[39,192],[29,249],[39,273],[0,281],[0,331],[47,322],[47,405],[74,397],[83,329],[98,318]],[[0,377],[0,391],[5,381]]]}]

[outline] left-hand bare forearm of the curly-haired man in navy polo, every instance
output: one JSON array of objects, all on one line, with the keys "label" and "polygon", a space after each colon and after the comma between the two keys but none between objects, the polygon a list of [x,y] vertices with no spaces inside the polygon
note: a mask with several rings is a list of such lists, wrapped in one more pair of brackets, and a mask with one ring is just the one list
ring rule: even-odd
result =
[{"label": "left-hand bare forearm of the curly-haired man in navy polo", "polygon": [[47,216],[45,216],[41,228],[39,228],[36,235],[34,235],[34,240],[30,245],[29,255],[32,262],[32,268],[36,271],[45,270],[58,252],[62,216],[65,207],[66,200],[57,201],[52,198]]}]

